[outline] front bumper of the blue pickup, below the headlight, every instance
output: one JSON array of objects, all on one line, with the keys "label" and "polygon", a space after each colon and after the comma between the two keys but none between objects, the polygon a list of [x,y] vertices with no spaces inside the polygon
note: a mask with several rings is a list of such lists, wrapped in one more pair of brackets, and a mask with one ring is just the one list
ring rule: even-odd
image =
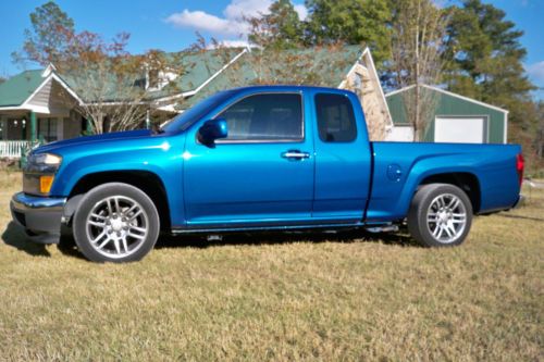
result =
[{"label": "front bumper of the blue pickup, below the headlight", "polygon": [[13,195],[11,214],[13,221],[25,228],[34,242],[58,244],[65,198],[46,198],[24,192]]}]

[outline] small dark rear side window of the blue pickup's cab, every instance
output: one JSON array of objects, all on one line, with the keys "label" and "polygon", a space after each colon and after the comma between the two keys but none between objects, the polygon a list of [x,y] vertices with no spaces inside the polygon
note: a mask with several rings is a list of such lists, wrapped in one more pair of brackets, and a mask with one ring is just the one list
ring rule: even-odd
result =
[{"label": "small dark rear side window of the blue pickup's cab", "polygon": [[319,138],[324,142],[350,142],[357,138],[351,102],[346,96],[316,95]]}]

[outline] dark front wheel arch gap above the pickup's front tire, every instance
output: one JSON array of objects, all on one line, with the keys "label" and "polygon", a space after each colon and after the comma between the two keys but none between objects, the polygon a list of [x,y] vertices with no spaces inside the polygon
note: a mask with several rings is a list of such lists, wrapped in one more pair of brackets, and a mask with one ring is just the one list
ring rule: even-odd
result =
[{"label": "dark front wheel arch gap above the pickup's front tire", "polygon": [[70,220],[77,209],[83,196],[92,188],[108,184],[123,183],[144,191],[154,203],[161,221],[161,228],[172,227],[166,188],[162,179],[154,173],[141,170],[106,171],[90,173],[79,178],[67,197],[64,215]]}]

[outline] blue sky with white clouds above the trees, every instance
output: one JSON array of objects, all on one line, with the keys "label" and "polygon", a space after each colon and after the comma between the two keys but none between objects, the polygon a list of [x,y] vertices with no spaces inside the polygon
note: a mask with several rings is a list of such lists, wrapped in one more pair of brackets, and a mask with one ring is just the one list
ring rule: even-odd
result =
[{"label": "blue sky with white clouds above the trees", "polygon": [[[0,0],[0,76],[15,75],[21,66],[12,63],[11,53],[22,47],[24,29],[30,27],[29,13],[46,0]],[[143,53],[149,49],[177,51],[205,37],[240,45],[246,32],[242,17],[265,12],[272,0],[57,0],[74,20],[77,30],[99,33],[111,39],[115,34],[131,34],[128,50]],[[484,0],[506,12],[506,17],[524,32],[521,43],[528,49],[524,67],[541,89],[544,99],[544,0]],[[304,0],[293,3],[300,17],[307,15]],[[33,66],[29,66],[33,67]]]}]

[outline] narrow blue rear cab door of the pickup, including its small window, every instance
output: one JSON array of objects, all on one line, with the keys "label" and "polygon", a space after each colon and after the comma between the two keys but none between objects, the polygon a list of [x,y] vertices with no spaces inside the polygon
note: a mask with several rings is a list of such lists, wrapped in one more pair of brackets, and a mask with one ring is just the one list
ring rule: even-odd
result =
[{"label": "narrow blue rear cab door of the pickup, including its small window", "polygon": [[372,167],[362,109],[355,95],[345,92],[316,91],[312,98],[316,118],[312,216],[361,221]]}]

